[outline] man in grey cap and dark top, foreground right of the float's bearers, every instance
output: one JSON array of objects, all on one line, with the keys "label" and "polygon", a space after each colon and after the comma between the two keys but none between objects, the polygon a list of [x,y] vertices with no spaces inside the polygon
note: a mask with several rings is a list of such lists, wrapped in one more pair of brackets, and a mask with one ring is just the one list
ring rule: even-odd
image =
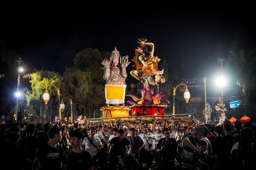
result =
[{"label": "man in grey cap and dark top, foreground right of the float's bearers", "polygon": [[203,136],[204,130],[202,128],[195,128],[192,130],[192,135],[184,138],[184,148],[181,154],[182,168],[193,169],[196,168],[198,162],[198,142]]}]

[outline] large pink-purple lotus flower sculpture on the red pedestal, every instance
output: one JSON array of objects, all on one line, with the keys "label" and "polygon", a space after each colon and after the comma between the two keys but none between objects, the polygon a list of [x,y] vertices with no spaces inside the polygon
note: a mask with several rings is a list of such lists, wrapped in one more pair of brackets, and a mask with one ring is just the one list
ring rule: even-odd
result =
[{"label": "large pink-purple lotus flower sculpture on the red pedestal", "polygon": [[129,103],[130,105],[133,104],[139,104],[139,105],[150,105],[150,104],[159,104],[159,105],[165,105],[166,102],[170,103],[168,100],[163,100],[162,102],[160,102],[160,99],[162,99],[163,97],[167,97],[168,95],[166,94],[161,94],[161,92],[157,93],[155,96],[153,96],[154,94],[154,89],[147,89],[147,88],[143,88],[141,91],[141,98],[138,98],[137,96],[135,96],[134,94],[127,94],[125,96],[129,96],[132,97],[133,100],[128,100],[127,103]]}]

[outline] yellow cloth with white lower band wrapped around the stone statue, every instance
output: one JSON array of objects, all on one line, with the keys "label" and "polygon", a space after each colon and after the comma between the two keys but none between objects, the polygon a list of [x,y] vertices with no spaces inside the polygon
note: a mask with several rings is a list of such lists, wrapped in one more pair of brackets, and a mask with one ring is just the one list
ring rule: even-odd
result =
[{"label": "yellow cloth with white lower band wrapped around the stone statue", "polygon": [[124,103],[126,85],[105,85],[105,98],[107,104]]}]

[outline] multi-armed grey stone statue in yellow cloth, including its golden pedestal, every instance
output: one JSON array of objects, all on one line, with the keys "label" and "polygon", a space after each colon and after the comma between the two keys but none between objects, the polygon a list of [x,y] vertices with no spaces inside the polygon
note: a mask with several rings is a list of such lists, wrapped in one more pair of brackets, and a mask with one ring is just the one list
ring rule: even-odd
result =
[{"label": "multi-armed grey stone statue in yellow cloth, including its golden pedestal", "polygon": [[107,81],[105,85],[105,98],[107,107],[102,107],[103,117],[127,116],[129,108],[124,107],[124,96],[126,90],[125,78],[126,67],[130,64],[128,55],[121,57],[119,51],[112,51],[109,60],[104,59],[103,78]]}]

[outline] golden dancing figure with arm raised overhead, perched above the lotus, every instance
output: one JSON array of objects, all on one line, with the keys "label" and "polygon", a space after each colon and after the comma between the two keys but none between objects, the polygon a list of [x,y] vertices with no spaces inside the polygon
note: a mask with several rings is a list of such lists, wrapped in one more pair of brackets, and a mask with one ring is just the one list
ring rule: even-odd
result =
[{"label": "golden dancing figure with arm raised overhead, perched above the lotus", "polygon": [[[138,49],[135,49],[135,56],[132,61],[136,65],[136,70],[132,70],[130,73],[133,77],[143,83],[144,87],[150,85],[157,85],[158,82],[164,83],[164,76],[160,76],[164,73],[164,69],[157,71],[157,63],[160,59],[156,56],[154,57],[154,44],[148,41],[147,39],[139,39],[140,46]],[[146,45],[150,46],[150,50]],[[135,66],[133,65],[133,66]]]}]

